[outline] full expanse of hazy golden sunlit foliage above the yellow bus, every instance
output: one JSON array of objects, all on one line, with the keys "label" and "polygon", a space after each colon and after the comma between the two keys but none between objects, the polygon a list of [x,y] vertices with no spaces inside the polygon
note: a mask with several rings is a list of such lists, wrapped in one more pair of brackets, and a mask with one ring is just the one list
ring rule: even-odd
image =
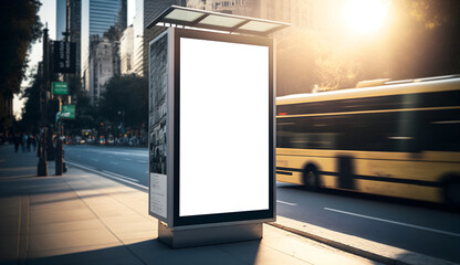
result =
[{"label": "full expanse of hazy golden sunlit foliage above the yellow bus", "polygon": [[370,35],[349,34],[338,23],[332,30],[283,30],[276,36],[278,95],[459,74],[459,10],[458,0],[398,0]]}]

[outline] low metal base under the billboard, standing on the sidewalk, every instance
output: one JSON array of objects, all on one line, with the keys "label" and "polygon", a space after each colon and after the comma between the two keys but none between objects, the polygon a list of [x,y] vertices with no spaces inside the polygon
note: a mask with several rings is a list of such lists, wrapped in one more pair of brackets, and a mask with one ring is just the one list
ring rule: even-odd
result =
[{"label": "low metal base under the billboard, standing on the sidewalk", "polygon": [[261,240],[262,230],[262,223],[171,229],[158,221],[158,241],[171,248],[194,247]]}]

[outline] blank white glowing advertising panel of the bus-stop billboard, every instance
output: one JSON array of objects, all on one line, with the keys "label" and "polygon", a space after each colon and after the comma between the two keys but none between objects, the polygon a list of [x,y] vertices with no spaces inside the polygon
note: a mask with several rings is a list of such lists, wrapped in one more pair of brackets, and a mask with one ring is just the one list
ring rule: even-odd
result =
[{"label": "blank white glowing advertising panel of the bus-stop billboard", "polygon": [[269,47],[180,39],[179,215],[269,210]]}]

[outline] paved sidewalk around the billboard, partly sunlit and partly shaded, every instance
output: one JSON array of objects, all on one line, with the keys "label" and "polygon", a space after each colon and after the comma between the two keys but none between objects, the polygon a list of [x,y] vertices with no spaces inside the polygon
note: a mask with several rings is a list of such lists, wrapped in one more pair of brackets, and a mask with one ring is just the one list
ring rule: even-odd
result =
[{"label": "paved sidewalk around the billboard, partly sunlit and partly shaded", "polygon": [[171,250],[157,241],[148,194],[69,168],[36,176],[35,152],[0,147],[0,264],[377,264],[263,226],[263,240]]}]

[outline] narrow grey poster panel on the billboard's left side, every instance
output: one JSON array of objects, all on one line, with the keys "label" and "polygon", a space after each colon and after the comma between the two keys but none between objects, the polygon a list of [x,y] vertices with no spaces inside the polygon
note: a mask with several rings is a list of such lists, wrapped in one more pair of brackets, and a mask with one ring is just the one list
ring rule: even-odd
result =
[{"label": "narrow grey poster panel on the billboard's left side", "polygon": [[168,35],[150,43],[149,52],[149,212],[166,220]]}]

